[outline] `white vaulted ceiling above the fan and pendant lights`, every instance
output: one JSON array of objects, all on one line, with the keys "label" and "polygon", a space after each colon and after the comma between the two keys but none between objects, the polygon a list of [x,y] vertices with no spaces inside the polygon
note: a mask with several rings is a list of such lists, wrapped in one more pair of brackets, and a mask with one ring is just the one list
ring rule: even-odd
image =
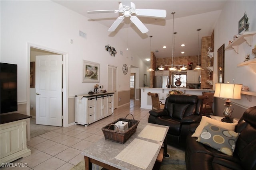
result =
[{"label": "white vaulted ceiling above the fan and pendant lights", "polygon": [[[118,0],[56,0],[54,2],[86,16],[89,18],[88,21],[105,25],[106,29],[112,25],[118,16],[122,15],[119,13],[87,13],[89,10],[118,10],[120,4]],[[124,36],[124,41],[127,41],[132,57],[140,57],[147,65],[150,64],[150,61],[145,59],[150,58],[150,49],[154,51],[157,58],[172,57],[173,32],[177,32],[174,57],[198,55],[197,29],[201,29],[200,39],[210,36],[226,3],[224,0],[132,0],[132,2],[137,9],[162,9],[167,12],[166,18],[138,16],[149,29],[147,33],[141,33],[130,22],[129,18],[124,18],[124,21],[114,32],[109,32],[109,36],[114,36],[120,29],[127,29],[127,36]],[[174,16],[171,14],[172,12],[175,12]],[[174,30],[172,30],[173,26]],[[181,47],[181,44],[185,44],[185,46]],[[164,45],[166,46],[165,49],[163,48]],[[185,53],[181,54],[182,51]]]}]

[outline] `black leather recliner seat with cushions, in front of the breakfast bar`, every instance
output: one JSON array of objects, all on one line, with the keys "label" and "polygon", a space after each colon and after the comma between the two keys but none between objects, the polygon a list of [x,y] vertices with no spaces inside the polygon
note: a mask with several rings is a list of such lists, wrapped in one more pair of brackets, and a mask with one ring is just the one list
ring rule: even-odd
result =
[{"label": "black leather recliner seat with cushions, in front of the breakfast bar", "polygon": [[148,123],[169,126],[168,144],[185,147],[189,125],[201,121],[202,100],[195,95],[170,95],[164,109],[149,113]]}]

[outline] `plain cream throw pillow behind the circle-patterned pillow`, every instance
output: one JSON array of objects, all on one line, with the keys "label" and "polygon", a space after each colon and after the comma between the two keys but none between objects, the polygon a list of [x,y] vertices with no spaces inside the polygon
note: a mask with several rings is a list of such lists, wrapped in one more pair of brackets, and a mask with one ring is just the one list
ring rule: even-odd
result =
[{"label": "plain cream throw pillow behind the circle-patterned pillow", "polygon": [[237,125],[237,123],[227,123],[227,122],[222,122],[222,121],[212,119],[210,117],[202,116],[200,124],[198,125],[198,127],[196,128],[195,133],[193,133],[193,135],[191,137],[199,137],[202,133],[202,130],[204,129],[204,126],[205,126],[206,122],[211,123],[212,125],[223,127],[223,128],[228,129],[230,131],[234,131],[235,127]]}]

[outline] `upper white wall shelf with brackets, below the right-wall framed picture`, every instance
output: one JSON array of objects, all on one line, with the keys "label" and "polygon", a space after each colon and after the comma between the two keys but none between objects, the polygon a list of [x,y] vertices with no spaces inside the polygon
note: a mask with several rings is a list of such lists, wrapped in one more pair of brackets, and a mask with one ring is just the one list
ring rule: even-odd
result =
[{"label": "upper white wall shelf with brackets, below the right-wall framed picture", "polygon": [[239,53],[239,45],[244,43],[244,41],[249,45],[252,46],[252,37],[256,34],[256,31],[253,32],[244,32],[243,34],[239,35],[232,43],[230,43],[225,50],[234,49],[236,53]]}]

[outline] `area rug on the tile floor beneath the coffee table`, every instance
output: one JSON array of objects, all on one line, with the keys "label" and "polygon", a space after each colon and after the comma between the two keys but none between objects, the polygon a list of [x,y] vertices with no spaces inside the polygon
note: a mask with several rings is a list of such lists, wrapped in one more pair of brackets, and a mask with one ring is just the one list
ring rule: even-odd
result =
[{"label": "area rug on the tile floor beneath the coffee table", "polygon": [[[160,170],[186,170],[185,152],[168,145],[167,148],[169,158],[164,158],[161,163]],[[93,170],[100,170],[102,167],[92,164]],[[79,162],[71,170],[85,170],[84,160]]]}]

